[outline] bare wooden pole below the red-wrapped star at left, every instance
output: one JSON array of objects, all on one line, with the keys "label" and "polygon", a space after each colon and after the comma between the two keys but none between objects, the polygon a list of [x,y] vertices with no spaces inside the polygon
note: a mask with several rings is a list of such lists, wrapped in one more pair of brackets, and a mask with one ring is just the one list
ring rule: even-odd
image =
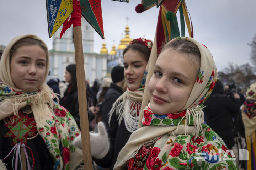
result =
[{"label": "bare wooden pole below the red-wrapped star at left", "polygon": [[75,45],[76,79],[78,86],[78,103],[82,135],[82,151],[84,169],[92,170],[91,144],[89,135],[89,121],[87,113],[86,82],[84,72],[84,53],[82,48],[81,26],[73,27]]}]

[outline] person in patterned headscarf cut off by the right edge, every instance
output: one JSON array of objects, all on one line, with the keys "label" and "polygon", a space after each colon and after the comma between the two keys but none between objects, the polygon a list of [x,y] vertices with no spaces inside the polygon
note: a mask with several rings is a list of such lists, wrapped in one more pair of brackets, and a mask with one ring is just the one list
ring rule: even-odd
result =
[{"label": "person in patterned headscarf cut off by the right edge", "polygon": [[246,169],[256,169],[256,83],[250,85],[246,91],[245,102],[241,106],[242,121],[245,127],[245,138],[249,159]]}]

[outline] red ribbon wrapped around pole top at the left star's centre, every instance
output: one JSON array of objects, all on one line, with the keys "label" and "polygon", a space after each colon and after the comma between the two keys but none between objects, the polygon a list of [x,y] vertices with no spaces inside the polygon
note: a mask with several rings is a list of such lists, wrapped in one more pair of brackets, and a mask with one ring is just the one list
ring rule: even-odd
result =
[{"label": "red ribbon wrapped around pole top at the left star's centre", "polygon": [[68,17],[66,21],[63,22],[62,31],[60,32],[60,39],[62,38],[63,33],[65,33],[65,31],[68,28],[70,28],[72,24],[73,24],[73,27],[81,26],[82,25],[81,18],[82,18],[82,11],[80,7],[80,0],[79,1],[74,0],[73,13],[71,14],[70,20]]}]

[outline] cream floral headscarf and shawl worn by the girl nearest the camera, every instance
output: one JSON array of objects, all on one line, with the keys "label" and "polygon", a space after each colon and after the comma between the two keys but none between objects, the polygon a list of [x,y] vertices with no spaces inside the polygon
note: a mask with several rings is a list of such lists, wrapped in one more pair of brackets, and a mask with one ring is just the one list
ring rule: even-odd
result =
[{"label": "cream floral headscarf and shawl worn by the girl nearest the camera", "polygon": [[201,53],[200,72],[188,101],[182,111],[167,115],[152,113],[149,103],[144,109],[144,127],[132,133],[118,155],[115,170],[127,166],[142,146],[152,144],[144,170],[238,169],[223,140],[203,120],[202,104],[217,80],[213,57],[203,44],[180,38],[196,44]]}]

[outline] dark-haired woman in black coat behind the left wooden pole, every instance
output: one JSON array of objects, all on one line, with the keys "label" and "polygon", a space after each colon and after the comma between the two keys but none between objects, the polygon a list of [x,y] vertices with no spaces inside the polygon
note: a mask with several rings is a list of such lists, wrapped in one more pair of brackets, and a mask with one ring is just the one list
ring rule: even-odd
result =
[{"label": "dark-haired woman in black coat behind the left wooden pole", "polygon": [[[79,104],[78,104],[78,89],[76,83],[76,67],[75,64],[68,65],[65,71],[65,81],[69,83],[64,97],[60,100],[60,105],[66,108],[70,114],[74,117],[76,124],[80,128],[80,115],[79,115]],[[86,95],[87,97],[87,95]],[[92,108],[88,108],[88,120],[89,122],[94,119],[95,111]],[[91,128],[90,128],[91,130]]]}]

